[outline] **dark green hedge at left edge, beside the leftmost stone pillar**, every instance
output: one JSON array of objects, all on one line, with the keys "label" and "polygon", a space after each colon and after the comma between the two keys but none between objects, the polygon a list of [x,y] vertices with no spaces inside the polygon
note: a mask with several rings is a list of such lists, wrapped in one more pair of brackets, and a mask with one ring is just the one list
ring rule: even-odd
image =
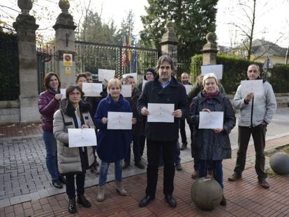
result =
[{"label": "dark green hedge at left edge, beside the leftmost stone pillar", "polygon": [[17,39],[0,32],[0,100],[15,100],[19,95]]}]

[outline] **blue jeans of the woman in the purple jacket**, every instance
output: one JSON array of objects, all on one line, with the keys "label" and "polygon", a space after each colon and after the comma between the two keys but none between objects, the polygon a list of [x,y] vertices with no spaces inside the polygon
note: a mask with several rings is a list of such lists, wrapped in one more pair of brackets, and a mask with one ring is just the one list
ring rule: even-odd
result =
[{"label": "blue jeans of the woman in the purple jacket", "polygon": [[43,140],[46,149],[46,166],[52,179],[59,178],[57,165],[57,141],[53,133],[43,130]]}]

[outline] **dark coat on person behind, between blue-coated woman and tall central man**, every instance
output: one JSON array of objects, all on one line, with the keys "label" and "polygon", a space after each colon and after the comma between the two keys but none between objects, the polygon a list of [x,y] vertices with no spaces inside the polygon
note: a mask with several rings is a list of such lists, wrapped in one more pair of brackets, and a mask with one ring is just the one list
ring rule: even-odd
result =
[{"label": "dark coat on person behind, between blue-coated woman and tall central man", "polygon": [[138,98],[142,92],[139,89],[133,89],[131,97],[127,97],[128,103],[131,105],[133,110],[133,118],[137,119],[137,122],[133,124],[133,135],[144,135],[144,121],[145,119],[138,113]]}]

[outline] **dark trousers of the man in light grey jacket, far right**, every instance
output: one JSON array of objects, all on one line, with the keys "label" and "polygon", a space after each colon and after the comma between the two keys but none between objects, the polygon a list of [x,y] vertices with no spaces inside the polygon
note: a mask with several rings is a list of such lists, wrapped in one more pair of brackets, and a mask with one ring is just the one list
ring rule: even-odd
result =
[{"label": "dark trousers of the man in light grey jacket, far right", "polygon": [[235,172],[241,174],[246,164],[246,151],[248,148],[251,135],[253,136],[255,147],[255,171],[258,174],[258,179],[265,179],[267,174],[265,173],[265,135],[267,127],[265,125],[258,125],[255,127],[239,126],[237,162]]}]

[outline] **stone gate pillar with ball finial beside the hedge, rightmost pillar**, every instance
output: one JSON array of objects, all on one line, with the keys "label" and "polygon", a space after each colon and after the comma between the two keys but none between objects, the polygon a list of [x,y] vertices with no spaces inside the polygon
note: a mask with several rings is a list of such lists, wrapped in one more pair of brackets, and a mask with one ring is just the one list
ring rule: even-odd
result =
[{"label": "stone gate pillar with ball finial beside the hedge, rightmost pillar", "polygon": [[206,36],[207,44],[202,47],[202,65],[216,65],[216,35],[209,32]]}]

